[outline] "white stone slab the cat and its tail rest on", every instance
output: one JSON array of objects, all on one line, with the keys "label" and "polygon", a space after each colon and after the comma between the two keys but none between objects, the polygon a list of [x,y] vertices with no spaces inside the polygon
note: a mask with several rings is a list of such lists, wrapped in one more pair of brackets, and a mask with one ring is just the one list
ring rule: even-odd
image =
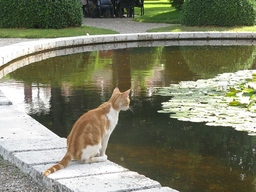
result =
[{"label": "white stone slab the cat and its tail rest on", "polygon": [[43,172],[53,165],[54,164],[33,166],[30,176],[38,184],[54,190],[56,180],[129,171],[128,169],[125,169],[124,167],[121,167],[108,160],[105,162],[90,164],[82,164],[79,161],[74,161],[70,162],[65,169],[58,170],[57,172],[49,174],[47,177],[43,176]]}]

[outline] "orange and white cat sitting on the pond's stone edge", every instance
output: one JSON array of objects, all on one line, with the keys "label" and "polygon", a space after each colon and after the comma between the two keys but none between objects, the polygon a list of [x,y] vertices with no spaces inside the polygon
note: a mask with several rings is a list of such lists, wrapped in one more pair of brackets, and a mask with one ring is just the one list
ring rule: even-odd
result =
[{"label": "orange and white cat sitting on the pond's stone edge", "polygon": [[129,109],[130,91],[131,89],[121,93],[116,87],[109,101],[84,113],[67,137],[67,153],[58,164],[47,169],[43,175],[48,176],[64,169],[72,159],[82,163],[106,161],[105,151],[109,136],[116,127],[118,113]]}]

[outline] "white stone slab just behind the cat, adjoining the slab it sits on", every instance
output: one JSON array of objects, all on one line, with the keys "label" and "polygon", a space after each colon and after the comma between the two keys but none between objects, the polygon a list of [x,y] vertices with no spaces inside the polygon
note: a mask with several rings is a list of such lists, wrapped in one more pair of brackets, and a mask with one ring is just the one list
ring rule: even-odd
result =
[{"label": "white stone slab just behind the cat, adjoining the slab it sits on", "polygon": [[67,149],[54,149],[46,151],[28,151],[14,153],[12,164],[16,165],[22,172],[30,173],[34,165],[58,163],[66,154]]}]

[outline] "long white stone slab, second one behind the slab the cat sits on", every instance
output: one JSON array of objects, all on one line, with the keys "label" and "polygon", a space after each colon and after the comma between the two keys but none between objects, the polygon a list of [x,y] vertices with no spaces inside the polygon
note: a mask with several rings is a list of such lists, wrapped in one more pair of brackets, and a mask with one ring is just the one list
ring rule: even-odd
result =
[{"label": "long white stone slab, second one behind the slab the cat sits on", "polygon": [[11,162],[12,154],[25,151],[42,151],[67,148],[66,138],[0,140],[0,154]]}]

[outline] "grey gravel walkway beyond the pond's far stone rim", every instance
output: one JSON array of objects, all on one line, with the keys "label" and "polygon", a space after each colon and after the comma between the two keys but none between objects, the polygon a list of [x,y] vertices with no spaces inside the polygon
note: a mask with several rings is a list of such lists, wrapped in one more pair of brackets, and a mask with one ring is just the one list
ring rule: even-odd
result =
[{"label": "grey gravel walkway beyond the pond's far stone rim", "polygon": [[[132,21],[132,18],[83,18],[83,25],[98,27],[103,29],[111,29],[124,33],[146,33],[149,29],[159,27],[166,27],[171,24],[167,23],[142,23]],[[16,44],[25,41],[34,41],[39,39],[26,39],[26,38],[0,38],[0,47]]]}]

